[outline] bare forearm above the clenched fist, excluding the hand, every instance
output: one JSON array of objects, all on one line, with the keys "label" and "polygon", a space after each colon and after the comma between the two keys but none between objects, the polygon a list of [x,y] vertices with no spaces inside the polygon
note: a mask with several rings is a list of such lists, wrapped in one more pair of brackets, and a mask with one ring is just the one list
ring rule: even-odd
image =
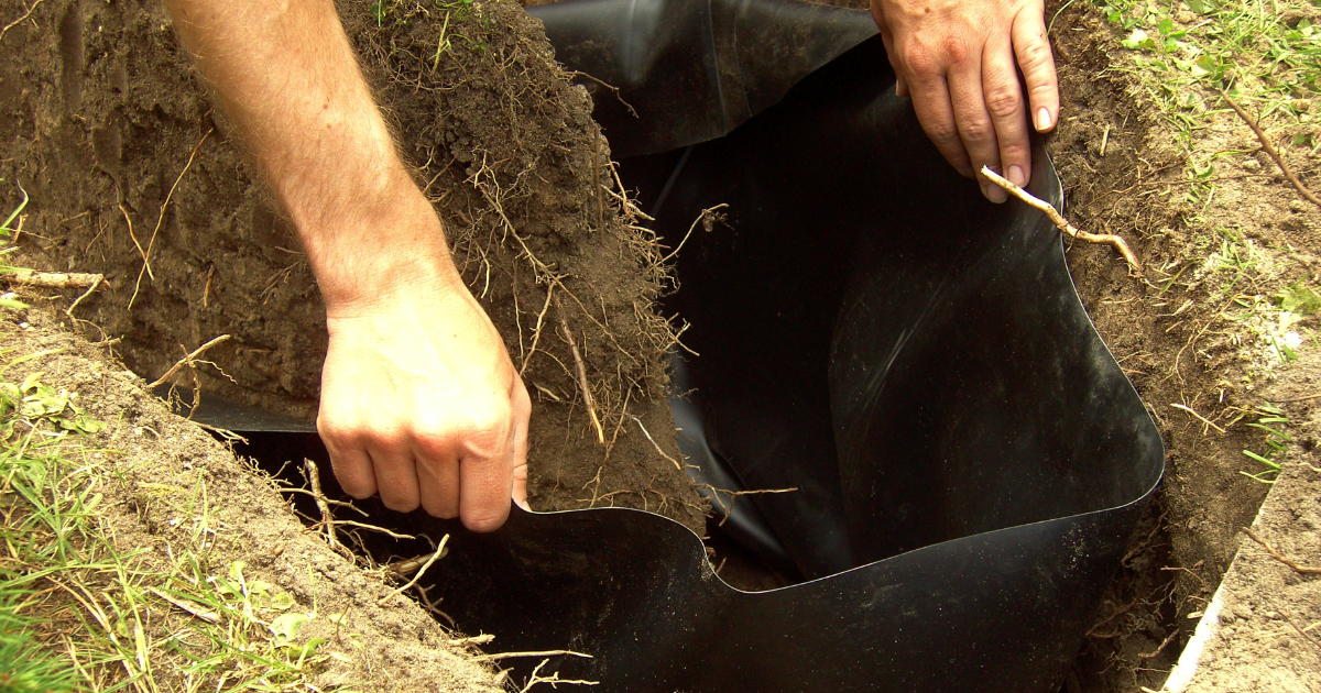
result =
[{"label": "bare forearm above the clenched fist, excluding the hand", "polygon": [[[330,0],[165,0],[299,230],[328,306],[452,280]],[[431,252],[419,252],[427,248]]]}]

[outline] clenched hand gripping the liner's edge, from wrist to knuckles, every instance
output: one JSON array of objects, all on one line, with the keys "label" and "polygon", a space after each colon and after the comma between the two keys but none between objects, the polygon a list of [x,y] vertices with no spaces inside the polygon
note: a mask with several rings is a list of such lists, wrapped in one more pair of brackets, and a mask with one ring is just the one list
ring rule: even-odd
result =
[{"label": "clenched hand gripping the liner's edge, from wrist to knuckles", "polygon": [[531,400],[461,281],[424,277],[328,305],[321,433],[339,484],[489,532],[527,508]]}]

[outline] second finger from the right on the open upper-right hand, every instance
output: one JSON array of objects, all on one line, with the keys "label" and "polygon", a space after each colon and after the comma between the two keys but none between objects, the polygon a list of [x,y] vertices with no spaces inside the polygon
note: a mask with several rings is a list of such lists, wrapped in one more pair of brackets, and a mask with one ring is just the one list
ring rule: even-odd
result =
[{"label": "second finger from the right on the open upper-right hand", "polygon": [[1013,46],[1008,41],[987,44],[982,90],[987,112],[995,124],[1000,170],[1013,185],[1028,185],[1028,177],[1032,176],[1032,141],[1018,71],[1013,67]]}]

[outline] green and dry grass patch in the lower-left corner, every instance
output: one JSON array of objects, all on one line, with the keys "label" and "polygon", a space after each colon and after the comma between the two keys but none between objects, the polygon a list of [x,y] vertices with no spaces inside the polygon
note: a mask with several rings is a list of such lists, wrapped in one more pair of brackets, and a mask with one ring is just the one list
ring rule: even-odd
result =
[{"label": "green and dry grass patch in the lower-left corner", "polygon": [[[62,351],[0,342],[0,693],[326,690],[310,688],[322,642],[297,636],[316,605],[218,558],[238,540],[201,473],[188,488],[129,483],[98,442],[112,426],[44,381]],[[119,525],[108,496],[133,510]],[[153,517],[169,517],[165,556],[123,545],[125,519]]]}]

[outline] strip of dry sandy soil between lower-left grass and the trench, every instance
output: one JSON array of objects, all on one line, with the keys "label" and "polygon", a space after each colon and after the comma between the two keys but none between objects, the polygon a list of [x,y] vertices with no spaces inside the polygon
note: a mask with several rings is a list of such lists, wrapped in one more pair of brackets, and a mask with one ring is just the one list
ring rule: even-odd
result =
[{"label": "strip of dry sandy soil between lower-left grass and the trench", "polygon": [[[34,292],[20,296],[48,302]],[[57,297],[54,305],[62,312],[65,302]],[[489,664],[472,659],[474,648],[456,643],[457,636],[416,602],[395,597],[379,606],[378,601],[394,587],[379,572],[374,576],[362,570],[333,552],[321,536],[305,529],[267,477],[236,459],[197,424],[170,413],[145,391],[145,380],[108,356],[106,346],[74,335],[63,325],[63,315],[49,306],[5,310],[0,315],[0,341],[8,354],[7,381],[17,383],[40,372],[44,384],[77,393],[87,414],[107,424],[85,447],[102,450],[94,463],[107,467],[87,495],[103,495],[99,521],[115,537],[116,546],[132,556],[125,562],[135,574],[164,579],[180,576],[180,565],[193,561],[199,576],[225,577],[235,561],[242,561],[248,585],[268,582],[273,585],[272,595],[288,594],[293,599],[291,611],[313,615],[299,628],[296,642],[325,640],[313,680],[325,690],[339,690],[345,682],[351,682],[354,690],[505,690],[502,677]],[[24,360],[32,355],[40,358]],[[7,513],[15,506],[16,494],[0,492],[0,507]],[[213,539],[197,543],[198,533]],[[182,546],[193,546],[196,553],[185,554]],[[100,579],[115,579],[102,573]],[[184,581],[164,586],[181,593],[196,589]],[[95,582],[89,585],[91,590],[98,587]],[[41,614],[54,615],[65,606],[78,611],[78,605],[63,591],[33,602]],[[141,591],[139,602],[139,618],[156,628],[152,632],[161,642],[172,631],[192,632],[192,615],[177,605],[147,591]],[[66,651],[59,628],[78,626],[67,615],[54,622],[55,632],[42,634],[50,639],[52,652]],[[155,680],[164,689],[198,690],[214,685],[210,688],[214,690],[225,684],[222,671],[202,673],[199,680],[185,675],[184,669],[194,664],[186,659],[186,648],[159,644],[153,643],[152,659]],[[156,660],[155,653],[161,651],[177,659]],[[86,659],[83,667],[98,676],[123,673],[118,665],[103,672]],[[114,678],[100,685],[110,684]]]}]

